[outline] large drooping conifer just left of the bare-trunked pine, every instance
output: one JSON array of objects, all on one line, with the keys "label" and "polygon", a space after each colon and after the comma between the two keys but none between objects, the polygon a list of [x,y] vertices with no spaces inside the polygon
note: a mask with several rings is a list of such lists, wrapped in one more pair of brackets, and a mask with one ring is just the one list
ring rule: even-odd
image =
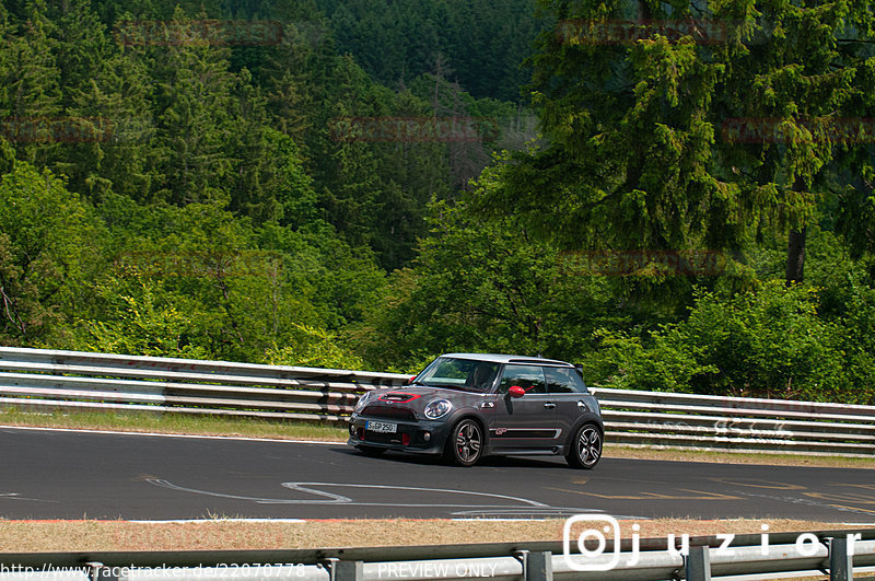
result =
[{"label": "large drooping conifer just left of the bare-trunked pine", "polygon": [[737,247],[738,191],[711,165],[711,95],[723,71],[711,48],[691,36],[626,43],[591,30],[622,19],[623,1],[541,4],[564,23],[541,34],[533,58],[549,143],[508,164],[506,187],[486,191],[483,209],[517,213],[574,249]]}]

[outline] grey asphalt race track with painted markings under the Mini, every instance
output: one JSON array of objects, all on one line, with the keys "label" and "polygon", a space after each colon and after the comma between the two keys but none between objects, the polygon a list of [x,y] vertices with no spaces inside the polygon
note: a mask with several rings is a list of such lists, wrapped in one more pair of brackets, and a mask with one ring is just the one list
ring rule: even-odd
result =
[{"label": "grey asphalt race track with painted markings under the Mini", "polygon": [[875,523],[875,470],[606,458],[472,468],[343,444],[0,428],[0,519],[788,518]]}]

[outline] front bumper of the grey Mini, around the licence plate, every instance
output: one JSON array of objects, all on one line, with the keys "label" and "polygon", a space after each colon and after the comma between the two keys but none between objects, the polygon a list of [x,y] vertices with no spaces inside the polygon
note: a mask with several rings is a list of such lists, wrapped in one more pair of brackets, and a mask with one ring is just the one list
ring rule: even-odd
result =
[{"label": "front bumper of the grey Mini, around the licence plate", "polygon": [[[369,420],[394,423],[397,430],[395,433],[371,431],[366,427]],[[441,420],[395,420],[353,414],[349,420],[347,443],[352,446],[366,445],[415,454],[441,454],[450,429],[451,426]]]}]

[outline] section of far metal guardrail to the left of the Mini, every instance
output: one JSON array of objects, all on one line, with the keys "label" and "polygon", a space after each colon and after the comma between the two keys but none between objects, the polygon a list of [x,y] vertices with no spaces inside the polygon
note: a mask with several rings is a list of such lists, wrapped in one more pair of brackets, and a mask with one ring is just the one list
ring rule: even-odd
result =
[{"label": "section of far metal guardrail to the left of the Mini", "polygon": [[407,375],[0,347],[0,405],[340,421]]}]

